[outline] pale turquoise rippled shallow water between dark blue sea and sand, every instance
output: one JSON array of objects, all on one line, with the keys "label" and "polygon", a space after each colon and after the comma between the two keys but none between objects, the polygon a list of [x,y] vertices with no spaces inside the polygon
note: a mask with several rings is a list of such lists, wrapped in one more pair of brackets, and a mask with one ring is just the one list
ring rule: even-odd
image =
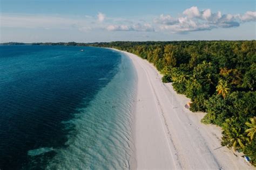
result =
[{"label": "pale turquoise rippled shallow water between dark blue sea and sand", "polygon": [[134,163],[132,111],[136,77],[126,56],[118,70],[88,107],[78,109],[74,119],[64,122],[67,127],[75,126],[67,141],[69,147],[56,151],[49,169],[124,169]]}]

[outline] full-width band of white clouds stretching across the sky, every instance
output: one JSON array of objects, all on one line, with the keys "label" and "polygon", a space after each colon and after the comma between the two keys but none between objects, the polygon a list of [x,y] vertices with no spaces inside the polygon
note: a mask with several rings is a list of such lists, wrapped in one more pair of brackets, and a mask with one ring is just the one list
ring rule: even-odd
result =
[{"label": "full-width band of white clouds stretching across the sky", "polygon": [[238,27],[246,22],[256,21],[256,11],[247,11],[244,14],[223,14],[211,9],[199,10],[197,6],[185,9],[179,17],[160,15],[145,19],[129,19],[106,17],[102,12],[95,16],[84,17],[54,17],[34,15],[1,16],[1,27],[25,29],[61,29],[90,31],[133,31],[133,32],[168,32],[184,33],[204,31],[218,28]]}]

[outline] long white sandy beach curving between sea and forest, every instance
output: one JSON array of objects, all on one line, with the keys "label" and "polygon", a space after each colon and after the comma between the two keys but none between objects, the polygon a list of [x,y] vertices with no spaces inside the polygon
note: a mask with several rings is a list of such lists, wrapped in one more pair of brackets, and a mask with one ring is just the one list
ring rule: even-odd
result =
[{"label": "long white sandy beach curving between sea and forest", "polygon": [[200,123],[170,83],[148,61],[128,55],[138,74],[135,108],[137,169],[254,169],[241,154],[222,147],[221,129]]}]

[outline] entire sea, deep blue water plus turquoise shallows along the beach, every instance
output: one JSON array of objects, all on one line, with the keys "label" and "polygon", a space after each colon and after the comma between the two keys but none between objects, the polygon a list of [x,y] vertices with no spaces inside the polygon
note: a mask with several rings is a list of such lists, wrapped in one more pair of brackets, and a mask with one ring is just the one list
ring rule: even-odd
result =
[{"label": "entire sea, deep blue water plus turquoise shallows along the beach", "polygon": [[0,46],[0,169],[129,168],[136,82],[111,49]]}]

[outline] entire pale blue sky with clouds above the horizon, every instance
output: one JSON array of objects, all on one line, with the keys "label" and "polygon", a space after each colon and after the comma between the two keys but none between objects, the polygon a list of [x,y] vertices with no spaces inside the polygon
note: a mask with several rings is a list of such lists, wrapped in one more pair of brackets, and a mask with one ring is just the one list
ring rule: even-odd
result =
[{"label": "entire pale blue sky with clouds above the horizon", "polygon": [[0,0],[0,42],[256,39],[251,0]]}]

